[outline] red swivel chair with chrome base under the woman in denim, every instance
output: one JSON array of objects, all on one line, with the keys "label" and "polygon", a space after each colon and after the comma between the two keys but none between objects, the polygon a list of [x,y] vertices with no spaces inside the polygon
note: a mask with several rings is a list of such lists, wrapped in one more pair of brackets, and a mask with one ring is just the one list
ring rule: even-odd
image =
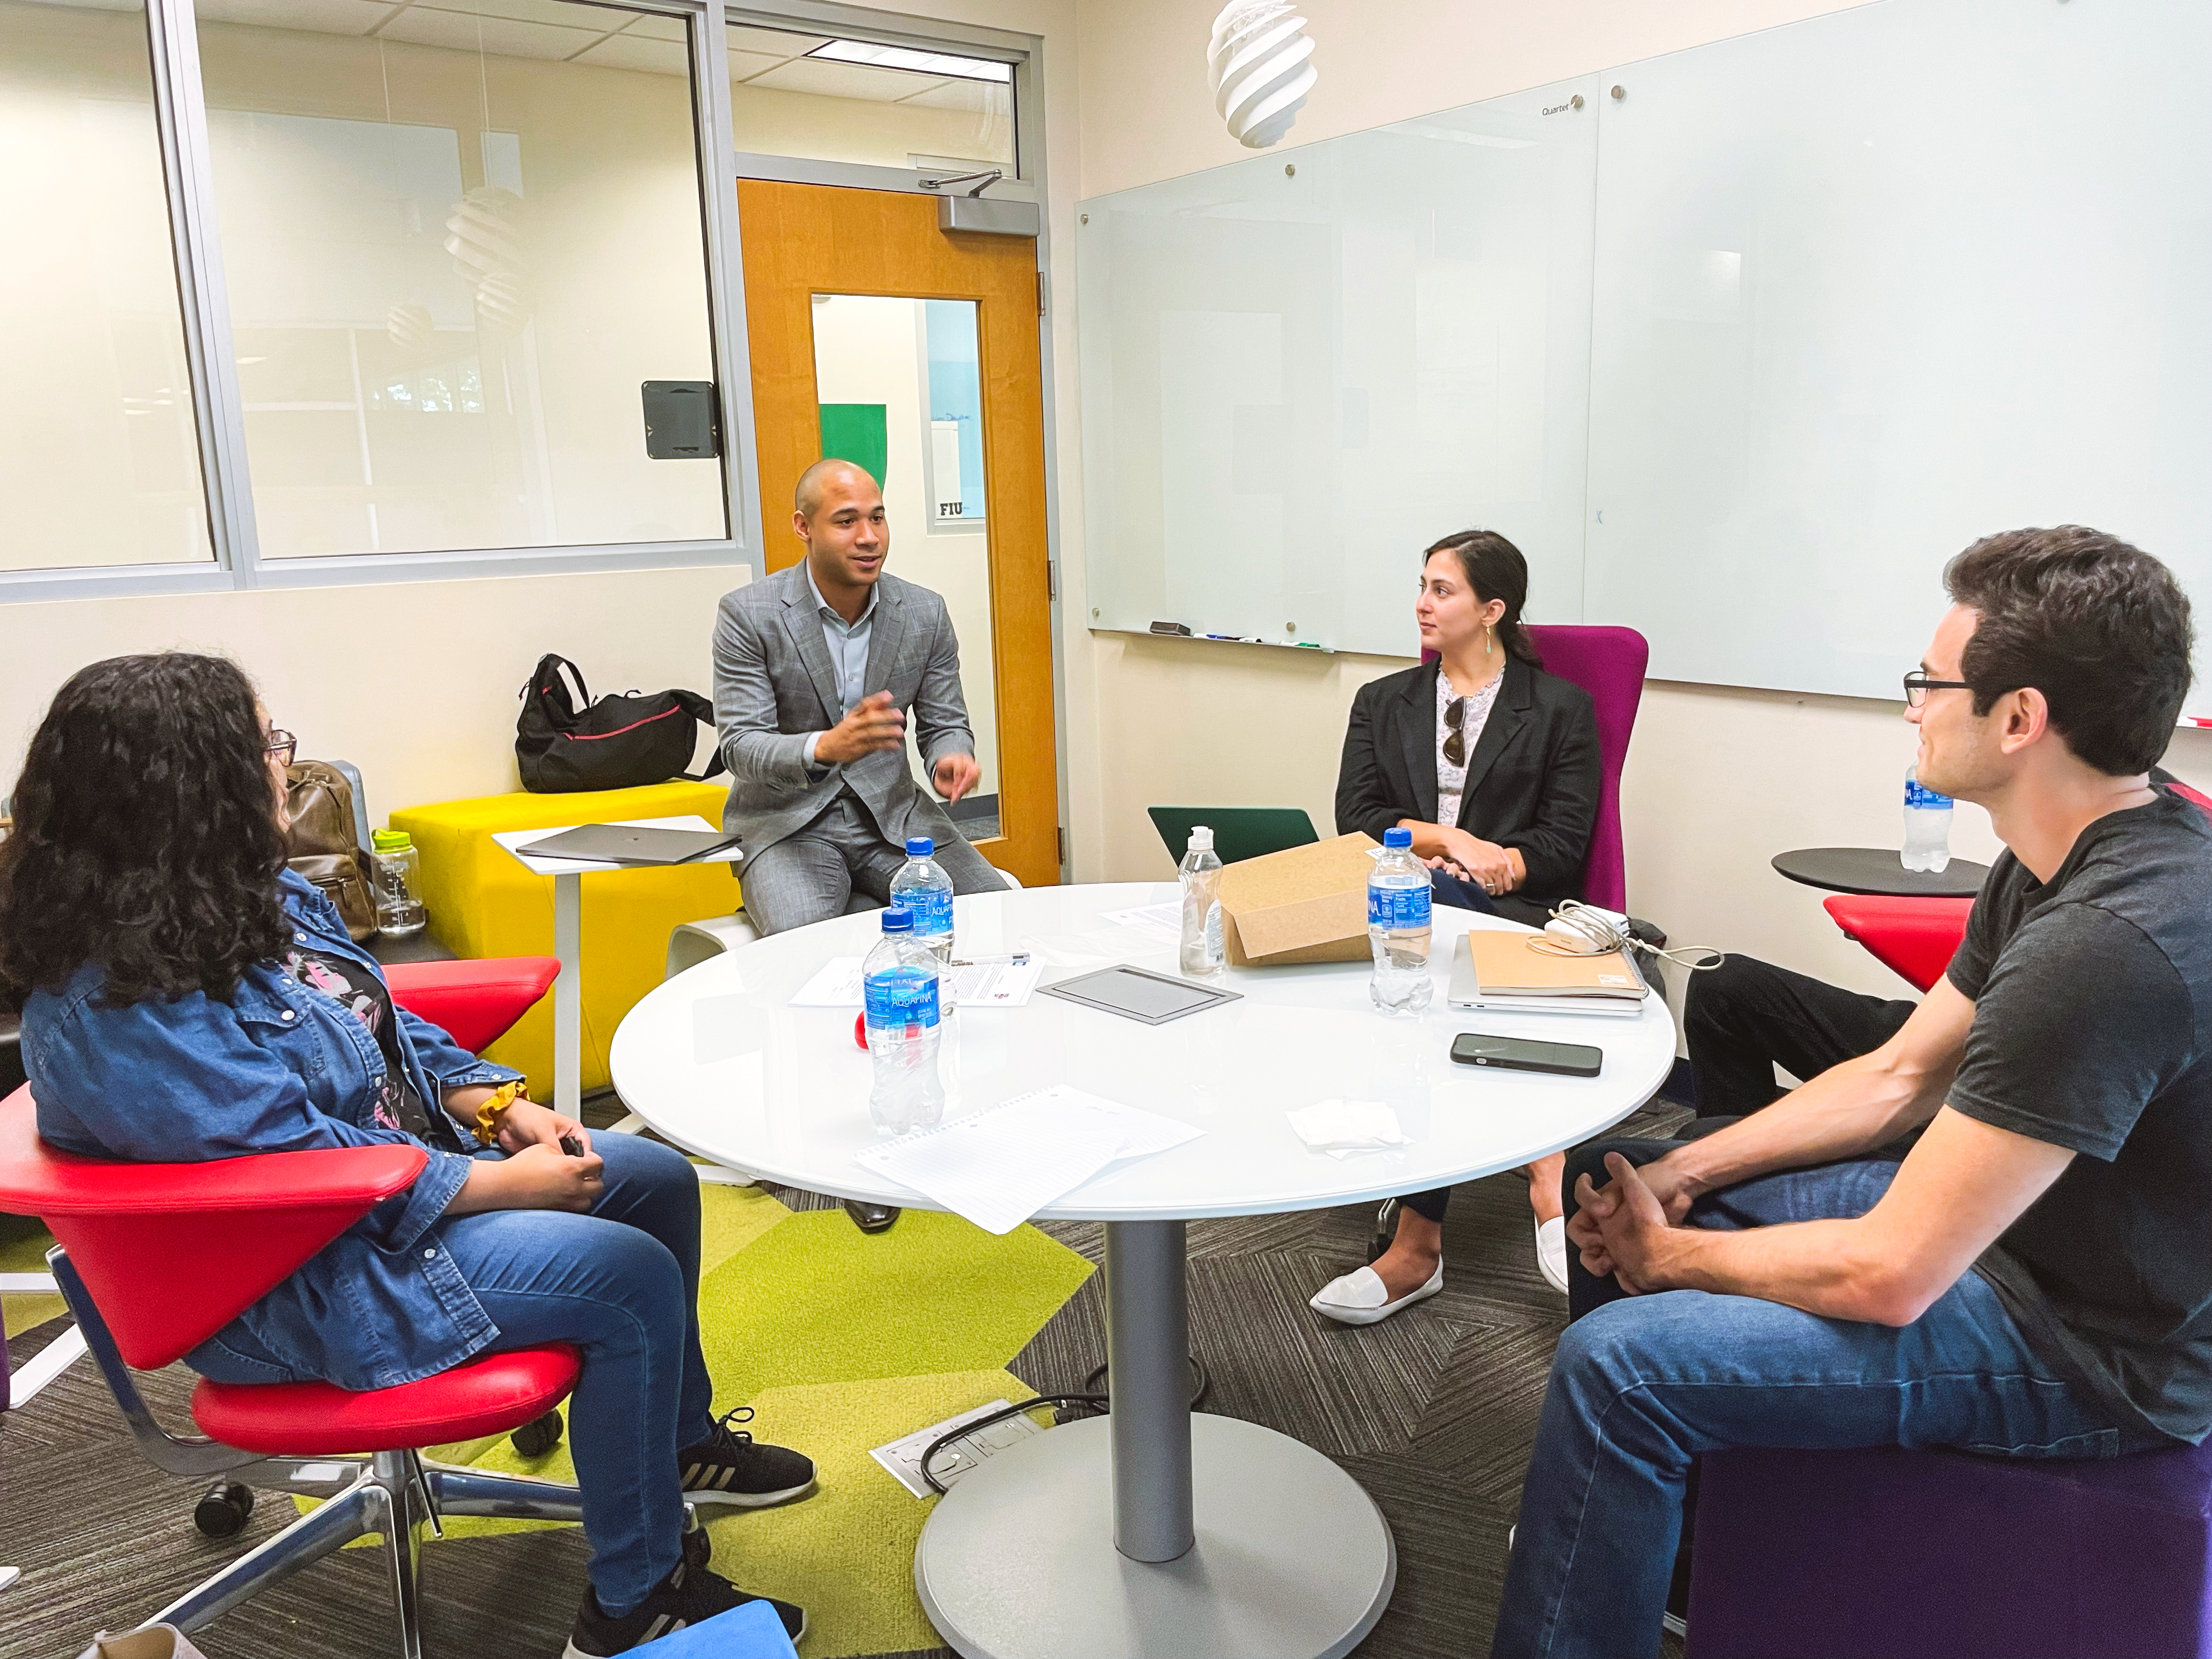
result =
[{"label": "red swivel chair with chrome base under the woman in denim", "polygon": [[[476,995],[462,993],[478,971]],[[489,1042],[544,995],[544,958],[436,964],[451,1002],[447,1029]],[[394,969],[394,995],[422,1009],[422,969]],[[398,1604],[400,1652],[420,1659],[418,1531],[440,1515],[582,1520],[575,1486],[425,1464],[420,1449],[535,1422],[575,1387],[566,1343],[489,1354],[392,1389],[327,1383],[192,1389],[208,1438],[164,1431],[133,1371],[179,1360],[283,1283],[316,1250],[403,1190],[429,1161],[420,1146],[270,1152],[210,1164],[113,1164],[38,1139],[29,1086],[0,1102],[0,1210],[40,1217],[62,1296],[146,1458],[173,1475],[230,1475],[254,1486],[327,1495],[310,1515],[241,1555],[146,1624],[199,1630],[261,1588],[356,1537],[383,1537]]]}]

